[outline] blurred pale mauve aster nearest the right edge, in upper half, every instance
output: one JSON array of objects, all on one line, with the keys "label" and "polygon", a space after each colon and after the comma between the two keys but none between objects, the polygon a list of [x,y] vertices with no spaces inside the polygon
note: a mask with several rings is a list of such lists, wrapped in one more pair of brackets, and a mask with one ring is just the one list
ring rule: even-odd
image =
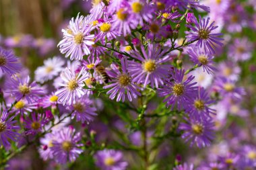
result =
[{"label": "blurred pale mauve aster nearest the right edge, in upper half", "polygon": [[228,57],[234,61],[249,60],[252,56],[253,44],[247,38],[234,39],[228,49]]}]

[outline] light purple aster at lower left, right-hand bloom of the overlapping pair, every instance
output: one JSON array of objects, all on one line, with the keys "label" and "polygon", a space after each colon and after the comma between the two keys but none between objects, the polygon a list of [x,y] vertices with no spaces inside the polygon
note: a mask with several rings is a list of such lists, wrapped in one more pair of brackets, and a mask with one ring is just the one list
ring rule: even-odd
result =
[{"label": "light purple aster at lower left, right-hand bloom of the overlapping pair", "polygon": [[67,161],[75,161],[75,159],[83,152],[78,142],[81,140],[81,134],[73,128],[62,128],[57,132],[57,138],[53,140],[53,156],[57,163],[64,164]]}]

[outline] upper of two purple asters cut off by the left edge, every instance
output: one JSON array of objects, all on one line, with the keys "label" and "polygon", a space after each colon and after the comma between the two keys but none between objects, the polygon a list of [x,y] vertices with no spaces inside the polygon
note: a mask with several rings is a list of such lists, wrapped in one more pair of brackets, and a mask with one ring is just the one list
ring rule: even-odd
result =
[{"label": "upper of two purple asters cut off by the left edge", "polygon": [[3,73],[14,75],[20,72],[22,65],[11,50],[5,50],[0,47],[0,69]]}]

